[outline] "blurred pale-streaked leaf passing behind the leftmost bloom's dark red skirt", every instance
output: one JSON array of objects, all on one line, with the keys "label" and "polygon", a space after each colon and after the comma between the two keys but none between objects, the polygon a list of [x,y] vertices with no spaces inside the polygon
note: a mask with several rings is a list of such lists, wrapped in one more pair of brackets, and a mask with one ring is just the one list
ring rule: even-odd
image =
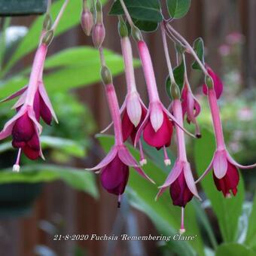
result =
[{"label": "blurred pale-streaked leaf passing behind the leftmost bloom's dark red skirt", "polygon": [[[84,157],[84,146],[72,139],[63,139],[53,136],[40,136],[42,148],[56,148],[73,157]],[[0,144],[0,153],[13,149],[11,142]]]}]

